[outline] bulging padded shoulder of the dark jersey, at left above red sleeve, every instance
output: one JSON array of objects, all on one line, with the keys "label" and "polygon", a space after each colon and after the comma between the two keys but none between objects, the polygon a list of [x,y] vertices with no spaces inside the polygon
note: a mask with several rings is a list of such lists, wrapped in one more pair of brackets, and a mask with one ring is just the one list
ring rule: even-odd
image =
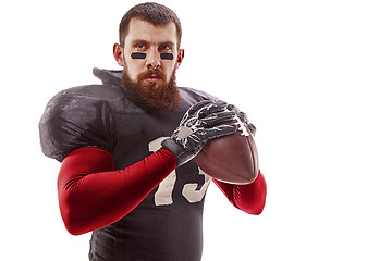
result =
[{"label": "bulging padded shoulder of the dark jersey, at left above red sleeve", "polygon": [[121,91],[101,85],[60,91],[48,102],[39,122],[44,154],[62,161],[83,147],[112,152],[115,121],[110,103],[121,98]]}]

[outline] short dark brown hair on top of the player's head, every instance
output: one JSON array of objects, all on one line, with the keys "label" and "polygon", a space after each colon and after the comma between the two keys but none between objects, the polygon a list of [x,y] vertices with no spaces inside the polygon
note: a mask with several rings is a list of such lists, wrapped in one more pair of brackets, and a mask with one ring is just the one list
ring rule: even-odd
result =
[{"label": "short dark brown hair on top of the player's head", "polygon": [[119,28],[121,46],[124,46],[125,44],[125,36],[128,33],[131,20],[136,17],[147,21],[154,25],[163,25],[173,22],[176,28],[177,48],[180,48],[182,28],[179,17],[171,9],[155,2],[137,4],[124,14]]}]

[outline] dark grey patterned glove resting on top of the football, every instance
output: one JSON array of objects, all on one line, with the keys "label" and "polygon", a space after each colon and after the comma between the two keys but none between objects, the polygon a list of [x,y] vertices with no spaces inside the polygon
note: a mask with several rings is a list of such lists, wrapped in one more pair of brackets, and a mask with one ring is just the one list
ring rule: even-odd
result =
[{"label": "dark grey patterned glove resting on top of the football", "polygon": [[162,147],[177,159],[177,166],[192,160],[208,140],[236,132],[235,123],[220,125],[235,117],[223,101],[205,100],[191,107],[172,136],[162,141]]}]

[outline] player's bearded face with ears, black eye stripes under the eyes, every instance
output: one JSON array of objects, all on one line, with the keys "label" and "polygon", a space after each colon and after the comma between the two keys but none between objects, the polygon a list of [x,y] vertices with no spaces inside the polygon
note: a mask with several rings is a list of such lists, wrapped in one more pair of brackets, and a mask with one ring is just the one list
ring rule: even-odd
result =
[{"label": "player's bearded face with ears, black eye stripes under the eyes", "polygon": [[[132,18],[124,46],[114,45],[113,51],[117,62],[124,67],[122,87],[131,100],[147,110],[175,109],[176,104],[170,107],[179,103],[179,97],[173,97],[177,96],[175,71],[184,50],[177,49],[174,23],[154,25]],[[132,53],[145,53],[145,58],[134,59]],[[161,53],[171,53],[173,59],[162,59]]]}]

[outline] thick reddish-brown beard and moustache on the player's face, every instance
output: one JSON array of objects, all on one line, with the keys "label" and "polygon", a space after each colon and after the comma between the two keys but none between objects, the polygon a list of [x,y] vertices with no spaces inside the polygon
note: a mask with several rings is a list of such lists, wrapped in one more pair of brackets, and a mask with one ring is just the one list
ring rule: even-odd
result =
[{"label": "thick reddish-brown beard and moustache on the player's face", "polygon": [[[152,74],[161,80],[157,83],[144,82]],[[180,107],[181,97],[175,82],[175,70],[168,83],[166,75],[160,70],[147,70],[140,73],[135,82],[131,79],[125,65],[122,71],[121,87],[128,100],[148,113],[168,114]]]}]

